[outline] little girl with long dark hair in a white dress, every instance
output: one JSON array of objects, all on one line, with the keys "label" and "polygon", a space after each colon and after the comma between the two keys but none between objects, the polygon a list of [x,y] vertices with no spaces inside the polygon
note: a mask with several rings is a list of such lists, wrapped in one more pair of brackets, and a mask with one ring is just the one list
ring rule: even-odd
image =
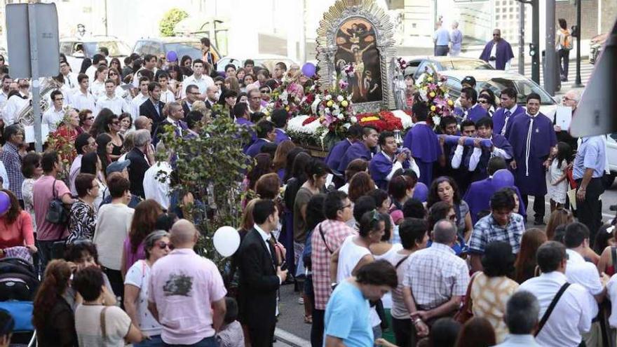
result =
[{"label": "little girl with long dark hair in a white dress", "polygon": [[555,158],[550,163],[548,170],[546,170],[546,186],[548,188],[548,197],[550,198],[550,212],[566,204],[568,191],[567,169],[571,155],[572,149],[570,145],[565,142],[559,142],[557,144],[557,154],[555,154]]}]

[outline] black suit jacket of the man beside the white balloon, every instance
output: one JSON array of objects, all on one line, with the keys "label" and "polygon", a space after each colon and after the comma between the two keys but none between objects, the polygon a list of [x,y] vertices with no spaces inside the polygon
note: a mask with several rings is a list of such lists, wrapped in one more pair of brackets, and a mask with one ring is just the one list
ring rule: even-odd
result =
[{"label": "black suit jacket of the man beside the white balloon", "polygon": [[[236,252],[240,269],[240,317],[253,329],[273,329],[276,325],[276,290],[280,280],[273,260],[276,258],[271,257],[267,247],[254,228]],[[271,251],[274,254],[273,247]]]}]

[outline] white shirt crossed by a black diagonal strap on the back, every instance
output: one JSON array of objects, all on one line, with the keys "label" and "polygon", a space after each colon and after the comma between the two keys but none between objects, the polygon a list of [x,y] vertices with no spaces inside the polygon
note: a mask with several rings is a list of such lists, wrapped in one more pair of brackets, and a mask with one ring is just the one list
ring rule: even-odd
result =
[{"label": "white shirt crossed by a black diagonal strap on the back", "polygon": [[[542,319],[550,302],[566,280],[564,273],[552,271],[530,278],[518,287],[518,291],[526,290],[538,299],[540,304],[538,321]],[[594,318],[588,295],[585,287],[577,283],[571,284],[555,305],[550,318],[536,336],[536,341],[541,346],[547,347],[578,347],[583,340],[581,334],[590,331],[591,320]]]}]

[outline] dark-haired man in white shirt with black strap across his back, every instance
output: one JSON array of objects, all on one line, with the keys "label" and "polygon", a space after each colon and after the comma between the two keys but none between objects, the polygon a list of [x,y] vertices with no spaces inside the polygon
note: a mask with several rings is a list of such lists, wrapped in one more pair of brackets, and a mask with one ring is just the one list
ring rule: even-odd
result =
[{"label": "dark-haired man in white shirt with black strap across his back", "polygon": [[[557,293],[567,285],[565,273],[568,255],[566,247],[555,241],[541,245],[536,254],[542,273],[526,280],[518,291],[531,292],[538,299],[538,319],[542,322],[543,315]],[[583,341],[582,334],[590,331],[592,319],[589,293],[585,287],[572,283],[564,290],[548,319],[545,318],[545,324],[538,327],[536,341],[545,347],[577,347]]]}]

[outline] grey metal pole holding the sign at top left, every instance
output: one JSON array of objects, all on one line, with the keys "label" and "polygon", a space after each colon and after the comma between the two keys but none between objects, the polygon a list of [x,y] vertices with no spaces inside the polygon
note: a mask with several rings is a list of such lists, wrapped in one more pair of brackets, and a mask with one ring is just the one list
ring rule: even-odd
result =
[{"label": "grey metal pole holding the sign at top left", "polygon": [[28,4],[28,28],[30,31],[30,65],[32,69],[32,116],[34,117],[34,149],[43,151],[41,141],[41,95],[39,95],[39,48],[36,44],[36,5]]}]

